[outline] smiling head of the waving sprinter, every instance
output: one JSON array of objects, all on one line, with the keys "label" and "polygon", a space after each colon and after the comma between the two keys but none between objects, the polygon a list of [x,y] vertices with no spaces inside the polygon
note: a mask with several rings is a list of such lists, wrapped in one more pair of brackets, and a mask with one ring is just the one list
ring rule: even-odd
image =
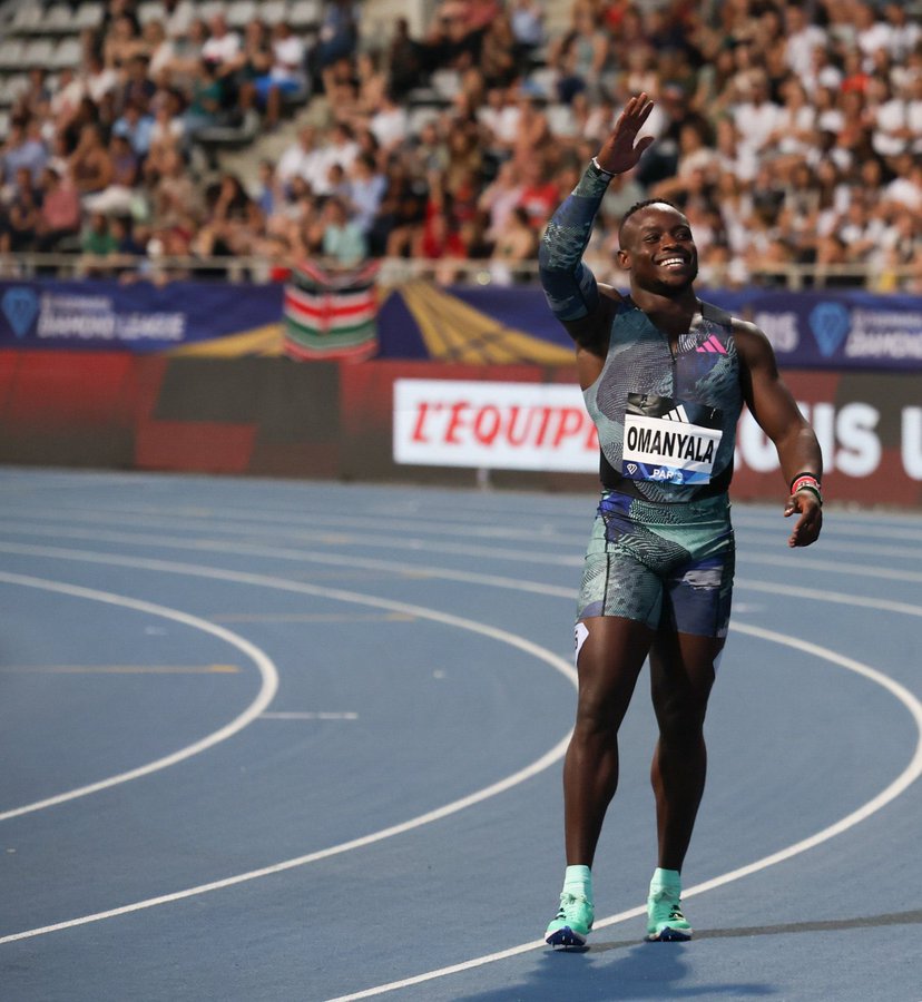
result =
[{"label": "smiling head of the waving sprinter", "polygon": [[648,292],[675,296],[698,274],[698,249],[688,219],[665,203],[637,209],[620,233],[618,263],[630,272],[631,284]]}]

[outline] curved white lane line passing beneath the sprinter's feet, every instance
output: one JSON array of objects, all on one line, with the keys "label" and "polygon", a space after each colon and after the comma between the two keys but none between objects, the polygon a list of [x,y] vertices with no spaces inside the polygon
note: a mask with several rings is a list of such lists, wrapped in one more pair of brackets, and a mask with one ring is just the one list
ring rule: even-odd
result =
[{"label": "curved white lane line passing beneath the sprinter's feet", "polygon": [[[826,647],[821,647],[818,644],[812,644],[807,640],[801,640],[800,638],[792,637],[787,633],[779,633],[775,630],[766,630],[762,627],[749,626],[748,623],[730,623],[730,629],[735,632],[746,633],[751,637],[758,637],[762,640],[768,640],[773,644],[781,644],[785,647],[792,647],[795,650],[800,650],[812,657],[830,661],[831,664],[837,665],[841,668],[845,668],[849,671],[854,671],[855,674],[870,679],[875,685],[882,686],[889,692],[895,696],[896,699],[899,699],[899,701],[902,703],[903,706],[912,715],[916,728],[915,750],[903,772],[885,789],[881,790],[881,793],[879,793],[875,797],[872,797],[866,804],[863,804],[856,811],[853,811],[841,821],[835,822],[835,824],[823,828],[815,835],[811,835],[807,838],[795,842],[793,845],[788,845],[786,848],[779,849],[776,853],[772,853],[768,856],[763,856],[761,859],[756,859],[754,863],[748,863],[745,866],[739,866],[736,870],[732,870],[727,873],[720,874],[719,876],[713,877],[709,881],[704,881],[700,884],[695,884],[687,891],[683,888],[683,901],[686,901],[689,897],[694,897],[696,894],[704,894],[705,892],[713,891],[716,887],[723,887],[726,884],[732,884],[735,881],[739,881],[743,880],[743,877],[747,877],[754,873],[758,873],[761,870],[767,870],[769,866],[775,866],[778,863],[784,863],[787,859],[793,858],[794,856],[798,856],[801,853],[805,853],[807,849],[815,848],[817,845],[822,845],[824,842],[828,842],[836,835],[842,835],[844,832],[847,832],[850,828],[853,828],[861,822],[866,821],[873,814],[876,814],[892,800],[895,800],[896,797],[904,793],[920,776],[922,776],[922,703],[920,703],[920,700],[916,699],[916,697],[912,692],[910,692],[909,689],[900,685],[900,682],[894,681],[882,671],[879,671],[876,668],[871,668],[870,666],[864,665],[861,661],[854,660],[854,658],[849,658],[844,655],[837,654],[834,650],[830,650]],[[594,923],[592,927],[596,931],[606,929],[607,926],[617,925],[620,922],[625,922],[628,918],[637,918],[640,915],[645,915],[646,912],[646,905],[639,905],[634,908],[628,908],[625,912],[618,912],[615,915],[609,915],[605,918],[598,920]],[[389,992],[395,992],[416,984],[423,984],[426,981],[434,981],[439,978],[448,978],[451,974],[459,974],[463,971],[470,971],[474,967],[482,967],[485,964],[492,964],[497,963],[498,961],[509,960],[510,957],[518,956],[522,953],[529,953],[533,950],[540,950],[541,947],[546,947],[546,943],[543,940],[532,940],[529,943],[521,943],[518,946],[511,946],[508,950],[500,950],[496,953],[489,953],[484,956],[472,957],[471,960],[462,961],[458,964],[439,967],[434,971],[426,971],[423,974],[415,974],[411,978],[403,978],[399,981],[391,981],[386,984],[379,984],[374,988],[365,989],[364,991],[360,992],[353,992],[349,995],[337,995],[335,999],[328,1000],[328,1002],[355,1002],[355,1000],[359,999],[371,999],[374,995],[384,995]]]}]

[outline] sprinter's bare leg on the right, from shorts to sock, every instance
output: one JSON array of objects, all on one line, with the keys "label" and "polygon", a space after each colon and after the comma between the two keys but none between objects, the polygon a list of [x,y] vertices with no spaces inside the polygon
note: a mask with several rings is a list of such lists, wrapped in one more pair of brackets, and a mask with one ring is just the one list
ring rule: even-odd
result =
[{"label": "sprinter's bare leg on the right, from shorts to sock", "polygon": [[707,772],[704,719],[723,639],[669,630],[650,648],[650,684],[659,740],[650,779],[656,794],[659,863],[681,870]]}]

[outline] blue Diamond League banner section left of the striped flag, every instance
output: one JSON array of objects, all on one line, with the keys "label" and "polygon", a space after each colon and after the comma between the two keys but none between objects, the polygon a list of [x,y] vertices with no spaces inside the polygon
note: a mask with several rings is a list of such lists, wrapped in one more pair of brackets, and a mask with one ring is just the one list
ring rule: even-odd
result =
[{"label": "blue Diamond League banner section left of the striped flag", "polygon": [[0,347],[165,352],[275,336],[282,287],[224,282],[0,282]]}]

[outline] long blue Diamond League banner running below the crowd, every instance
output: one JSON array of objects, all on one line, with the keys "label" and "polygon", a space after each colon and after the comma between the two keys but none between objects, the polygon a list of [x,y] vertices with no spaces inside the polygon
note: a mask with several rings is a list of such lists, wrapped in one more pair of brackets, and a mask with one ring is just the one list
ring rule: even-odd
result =
[{"label": "long blue Diamond League banner running below the crowd", "polygon": [[[367,297],[373,289],[366,284],[361,292]],[[922,296],[752,287],[703,289],[700,295],[757,324],[783,369],[922,371]],[[442,287],[413,279],[381,287],[374,298],[381,304],[377,358],[572,364],[572,342],[538,287]],[[335,310],[321,311],[323,322],[331,330],[345,325],[350,336],[355,335],[356,323],[351,311],[364,311],[359,317],[363,323],[375,312],[364,299],[337,304],[339,299],[334,306],[343,306],[342,316]],[[316,304],[297,305],[295,318],[308,315],[310,323],[302,327],[312,334]],[[291,347],[286,325],[291,327],[292,308],[291,292],[286,296],[281,284],[6,279],[0,281],[0,347],[282,354]],[[372,335],[373,326],[369,326]],[[374,340],[364,328],[359,333],[357,348],[366,357]],[[324,346],[334,340],[326,336]],[[313,355],[302,352],[298,357]]]}]

